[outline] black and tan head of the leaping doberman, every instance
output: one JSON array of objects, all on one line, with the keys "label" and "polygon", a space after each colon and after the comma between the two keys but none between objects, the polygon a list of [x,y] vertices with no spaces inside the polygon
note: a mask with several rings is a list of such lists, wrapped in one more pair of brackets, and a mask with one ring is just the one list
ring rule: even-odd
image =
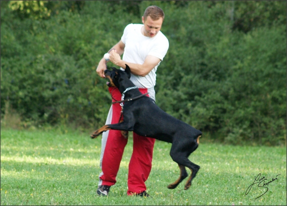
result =
[{"label": "black and tan head of the leaping doberman", "polygon": [[109,80],[106,82],[107,86],[116,86],[119,88],[119,82],[124,78],[131,77],[131,69],[128,65],[126,65],[125,71],[111,67],[112,70],[105,70],[104,75]]}]

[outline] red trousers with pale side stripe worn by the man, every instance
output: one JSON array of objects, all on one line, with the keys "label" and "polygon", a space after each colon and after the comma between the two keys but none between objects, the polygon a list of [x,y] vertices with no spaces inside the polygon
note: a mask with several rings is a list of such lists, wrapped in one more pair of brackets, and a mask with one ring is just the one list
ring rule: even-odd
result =
[{"label": "red trousers with pale side stripe worn by the man", "polygon": [[[140,89],[146,93],[147,89]],[[118,88],[109,87],[109,92],[116,100],[121,100],[122,94]],[[115,101],[115,100],[112,100]],[[109,111],[106,124],[119,123],[121,116],[119,103],[113,104]],[[153,146],[155,139],[143,137],[133,133],[133,153],[129,164],[128,195],[140,193],[146,190],[145,181],[151,171]],[[114,185],[118,174],[120,163],[123,157],[124,148],[128,142],[119,130],[108,130],[102,135],[101,148],[101,169],[99,185]]]}]

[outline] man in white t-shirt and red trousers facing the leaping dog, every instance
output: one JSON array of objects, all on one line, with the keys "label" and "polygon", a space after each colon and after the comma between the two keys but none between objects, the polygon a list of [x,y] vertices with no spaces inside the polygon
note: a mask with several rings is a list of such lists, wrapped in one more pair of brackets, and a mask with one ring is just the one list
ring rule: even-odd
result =
[{"label": "man in white t-shirt and red trousers facing the leaping dog", "polygon": [[[164,20],[163,11],[157,6],[146,8],[142,17],[143,24],[129,24],[121,40],[109,50],[109,61],[125,69],[129,65],[131,80],[142,93],[149,93],[155,100],[156,70],[168,49],[168,40],[160,31]],[[123,60],[121,60],[123,55]],[[96,72],[104,78],[106,60],[102,58]],[[117,88],[109,87],[113,99],[120,100],[121,93]],[[113,104],[105,124],[119,122],[120,104]],[[149,196],[146,193],[145,181],[151,171],[153,146],[155,139],[142,137],[133,133],[133,153],[129,164],[128,195]],[[102,134],[100,167],[97,194],[107,196],[110,186],[116,183],[124,148],[128,142],[121,131],[108,130]]]}]

